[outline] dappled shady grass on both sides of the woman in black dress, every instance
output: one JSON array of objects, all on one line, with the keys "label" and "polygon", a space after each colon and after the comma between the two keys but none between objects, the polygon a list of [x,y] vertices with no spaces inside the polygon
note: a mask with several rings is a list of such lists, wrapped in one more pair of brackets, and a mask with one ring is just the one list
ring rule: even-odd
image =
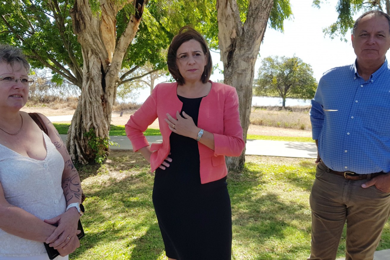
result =
[{"label": "dappled shady grass on both sides of the woman in black dress", "polygon": [[[128,152],[115,152],[110,160],[107,165],[80,168],[83,180],[92,176],[94,179],[83,183],[87,195],[87,214],[82,219],[86,237],[72,259],[73,256],[92,259],[87,258],[91,253],[95,259],[157,259],[164,245],[151,199],[153,176],[139,154],[129,156]],[[252,241],[262,248],[269,241],[288,240],[291,232],[308,236],[308,231],[293,221],[301,219],[310,223],[310,219],[301,214],[305,205],[285,203],[276,193],[259,193],[259,186],[264,185],[263,176],[261,171],[248,168],[229,173],[234,240],[242,241],[244,247]],[[285,181],[297,186],[309,185],[308,180],[302,182],[298,175],[287,176]],[[259,249],[248,259],[299,259],[294,258],[293,251],[307,251],[309,246],[310,239],[303,245],[292,242],[288,251],[278,253],[273,249],[268,252]]]}]

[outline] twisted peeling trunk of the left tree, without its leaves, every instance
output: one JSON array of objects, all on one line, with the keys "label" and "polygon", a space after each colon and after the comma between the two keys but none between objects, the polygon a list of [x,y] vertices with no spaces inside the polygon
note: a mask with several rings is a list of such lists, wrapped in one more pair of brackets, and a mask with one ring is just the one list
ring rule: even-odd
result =
[{"label": "twisted peeling trunk of the left tree, without its leaves", "polygon": [[[108,156],[110,148],[101,145],[108,140],[112,105],[120,82],[118,73],[126,50],[134,38],[144,9],[144,0],[119,4],[100,0],[100,13],[91,10],[88,0],[76,0],[70,15],[74,34],[82,46],[83,85],[81,97],[67,136],[67,149],[74,162],[93,162],[98,153]],[[133,2],[126,30],[116,41],[116,15],[124,4]],[[93,128],[92,136],[85,136]],[[96,141],[90,145],[89,141]],[[99,143],[100,142],[100,143]],[[99,151],[96,150],[99,147]]]}]

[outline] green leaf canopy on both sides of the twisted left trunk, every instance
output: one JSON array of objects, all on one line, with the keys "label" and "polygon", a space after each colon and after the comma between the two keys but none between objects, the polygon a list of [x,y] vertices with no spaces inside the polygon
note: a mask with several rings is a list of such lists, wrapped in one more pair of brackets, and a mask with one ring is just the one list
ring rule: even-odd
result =
[{"label": "green leaf canopy on both sides of the twisted left trunk", "polygon": [[[131,3],[116,2],[119,12],[111,18],[116,20],[115,44],[126,28],[129,15],[135,12]],[[146,62],[153,65],[153,70],[166,67],[166,58],[161,50],[167,48],[183,25],[192,23],[207,35],[216,35],[217,31],[213,32],[215,27],[211,26],[216,25],[215,2],[214,6],[213,1],[202,2],[202,5],[197,5],[185,0],[150,0],[144,9],[137,35],[124,56],[122,67],[129,73],[123,73],[121,81],[131,81],[129,74]],[[92,12],[99,15],[99,2],[90,1],[90,4]],[[74,0],[0,2],[0,43],[22,48],[33,68],[51,69],[53,82],[62,83],[65,80],[81,88],[83,57],[69,14],[73,5]],[[200,19],[204,23],[197,24],[196,21]],[[210,36],[210,39],[216,46],[216,37]]]}]

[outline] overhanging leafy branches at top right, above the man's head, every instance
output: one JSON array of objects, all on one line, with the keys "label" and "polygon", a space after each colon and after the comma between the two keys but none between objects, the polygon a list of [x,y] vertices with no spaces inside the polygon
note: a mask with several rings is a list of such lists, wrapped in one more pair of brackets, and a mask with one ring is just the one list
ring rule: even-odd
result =
[{"label": "overhanging leafy branches at top right, above the man's head", "polygon": [[[323,4],[322,0],[313,0],[313,5],[320,8]],[[338,12],[337,21],[323,32],[331,39],[339,37],[342,41],[349,41],[349,37],[345,37],[349,29],[355,23],[353,15],[360,11],[369,11],[372,9],[379,9],[387,14],[390,14],[390,0],[339,0],[337,2],[336,11]]]}]

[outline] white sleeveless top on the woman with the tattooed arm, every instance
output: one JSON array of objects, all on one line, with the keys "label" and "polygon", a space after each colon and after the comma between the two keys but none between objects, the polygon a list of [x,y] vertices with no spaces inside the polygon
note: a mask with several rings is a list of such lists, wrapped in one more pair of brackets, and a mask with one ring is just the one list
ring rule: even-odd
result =
[{"label": "white sleeveless top on the woman with the tattooed arm", "polygon": [[[37,218],[50,219],[66,210],[61,186],[64,159],[45,133],[43,137],[47,150],[43,161],[22,156],[0,144],[0,182],[10,204]],[[41,254],[46,254],[43,242],[23,239],[0,229],[0,259],[1,256]]]}]

